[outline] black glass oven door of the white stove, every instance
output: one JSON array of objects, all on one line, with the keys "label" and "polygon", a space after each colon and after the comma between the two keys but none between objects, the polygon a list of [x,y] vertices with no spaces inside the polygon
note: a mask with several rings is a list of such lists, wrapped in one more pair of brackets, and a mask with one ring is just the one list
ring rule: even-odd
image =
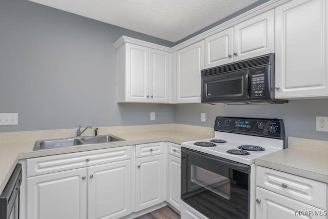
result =
[{"label": "black glass oven door of the white stove", "polygon": [[181,199],[209,218],[248,219],[251,167],[181,148]]}]

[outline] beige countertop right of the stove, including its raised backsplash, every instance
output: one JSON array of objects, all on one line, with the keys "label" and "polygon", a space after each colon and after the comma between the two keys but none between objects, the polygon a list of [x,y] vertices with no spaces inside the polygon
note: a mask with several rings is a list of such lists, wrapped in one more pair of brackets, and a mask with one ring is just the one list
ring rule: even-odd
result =
[{"label": "beige countertop right of the stove, including its raised backsplash", "polygon": [[289,137],[288,145],[287,149],[257,158],[255,163],[328,183],[328,142]]}]

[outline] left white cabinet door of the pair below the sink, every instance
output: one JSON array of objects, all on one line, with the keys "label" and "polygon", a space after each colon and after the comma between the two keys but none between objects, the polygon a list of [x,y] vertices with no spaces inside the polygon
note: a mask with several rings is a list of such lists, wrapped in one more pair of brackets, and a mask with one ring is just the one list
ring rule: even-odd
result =
[{"label": "left white cabinet door of the pair below the sink", "polygon": [[27,219],[87,219],[87,168],[27,178]]}]

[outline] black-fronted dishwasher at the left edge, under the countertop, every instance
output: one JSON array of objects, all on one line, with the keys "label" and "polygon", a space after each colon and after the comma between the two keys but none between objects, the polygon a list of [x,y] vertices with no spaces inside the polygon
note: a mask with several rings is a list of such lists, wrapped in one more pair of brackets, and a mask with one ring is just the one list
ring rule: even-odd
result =
[{"label": "black-fronted dishwasher at the left edge, under the countertop", "polygon": [[0,195],[0,219],[19,218],[19,186],[22,183],[22,164],[17,164]]}]

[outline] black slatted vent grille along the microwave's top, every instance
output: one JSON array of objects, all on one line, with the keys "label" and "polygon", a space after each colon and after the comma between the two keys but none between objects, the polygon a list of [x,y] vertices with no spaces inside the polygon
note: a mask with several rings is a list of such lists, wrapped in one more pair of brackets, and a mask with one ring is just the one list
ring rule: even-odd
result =
[{"label": "black slatted vent grille along the microwave's top", "polygon": [[262,65],[270,65],[272,55],[273,54],[271,53],[271,54],[260,56],[257,58],[247,59],[245,61],[240,61],[240,62],[222,65],[222,66],[218,66],[218,67],[213,67],[213,68],[209,68],[209,69],[204,69],[204,70],[201,70],[201,76],[206,77],[206,76],[210,76],[213,74],[221,74],[221,73],[227,73],[227,72],[231,72],[231,71],[254,68],[254,67],[262,66]]}]

